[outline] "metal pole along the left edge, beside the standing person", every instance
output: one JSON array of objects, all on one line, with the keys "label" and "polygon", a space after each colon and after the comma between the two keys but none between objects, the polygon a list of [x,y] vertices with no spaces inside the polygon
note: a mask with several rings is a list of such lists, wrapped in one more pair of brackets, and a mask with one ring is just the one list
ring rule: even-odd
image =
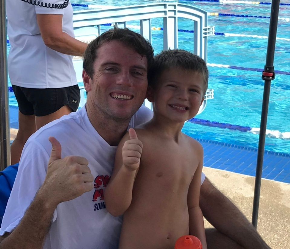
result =
[{"label": "metal pole along the left edge, beside the standing person", "polygon": [[10,165],[5,0],[0,0],[0,169]]}]

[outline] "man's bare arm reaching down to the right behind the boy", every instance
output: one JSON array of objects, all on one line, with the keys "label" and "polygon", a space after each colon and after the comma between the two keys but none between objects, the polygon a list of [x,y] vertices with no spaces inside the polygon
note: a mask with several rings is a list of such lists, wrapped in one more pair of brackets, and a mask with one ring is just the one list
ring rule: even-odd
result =
[{"label": "man's bare arm reaching down to the right behind the boy", "polygon": [[270,248],[242,212],[207,178],[200,188],[200,208],[204,217],[218,231],[244,248]]}]

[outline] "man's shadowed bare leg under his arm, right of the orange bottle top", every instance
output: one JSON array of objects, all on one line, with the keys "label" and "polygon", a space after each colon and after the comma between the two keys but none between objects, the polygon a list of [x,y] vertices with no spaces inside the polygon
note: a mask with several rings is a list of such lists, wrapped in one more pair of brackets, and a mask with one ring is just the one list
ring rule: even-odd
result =
[{"label": "man's shadowed bare leg under his arm, right of the orange bottle top", "polygon": [[207,249],[243,249],[243,247],[215,228],[207,228],[205,235],[207,238]]}]

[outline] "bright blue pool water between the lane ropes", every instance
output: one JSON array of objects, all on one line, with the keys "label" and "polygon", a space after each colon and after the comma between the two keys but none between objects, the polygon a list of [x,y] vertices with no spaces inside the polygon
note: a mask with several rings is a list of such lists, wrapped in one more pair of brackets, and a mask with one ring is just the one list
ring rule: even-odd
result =
[{"label": "bright blue pool water between the lane ropes", "polygon": [[[105,1],[72,0],[72,3],[104,5]],[[146,1],[153,3],[160,1]],[[176,2],[176,1],[172,1]],[[219,2],[179,1],[208,12],[224,14],[244,14],[270,16],[271,5],[220,4]],[[281,0],[290,3],[290,0]],[[139,5],[144,1],[126,0],[118,5]],[[105,5],[116,5],[116,1],[106,1]],[[83,8],[83,7],[82,7]],[[75,10],[82,9],[80,7]],[[290,17],[290,6],[280,6],[279,18]],[[215,32],[268,36],[268,18],[242,18],[209,16],[208,25],[215,26]],[[132,23],[133,24],[133,23]],[[152,21],[152,26],[161,27],[161,20]],[[180,18],[178,28],[193,30],[191,22]],[[162,31],[152,31],[152,45],[155,53],[162,49]],[[179,33],[179,48],[191,50],[188,40],[191,33]],[[290,38],[290,21],[279,19],[277,37]],[[208,38],[208,63],[263,69],[266,62],[267,39],[238,36],[212,36]],[[277,40],[275,48],[275,70],[290,72],[290,41]],[[214,99],[197,118],[230,123],[234,125],[259,127],[264,81],[261,72],[226,69],[209,66],[209,88],[214,89]],[[13,98],[11,104],[13,104]],[[277,74],[271,85],[267,129],[290,132],[290,75]],[[259,136],[251,133],[185,123],[183,131],[206,140],[258,148]],[[266,150],[290,153],[290,140],[266,138]]]}]

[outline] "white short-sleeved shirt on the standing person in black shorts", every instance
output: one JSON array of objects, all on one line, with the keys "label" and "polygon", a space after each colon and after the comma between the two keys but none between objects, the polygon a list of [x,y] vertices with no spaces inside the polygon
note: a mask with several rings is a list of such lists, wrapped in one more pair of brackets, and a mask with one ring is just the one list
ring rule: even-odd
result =
[{"label": "white short-sleeved shirt on the standing person in black shorts", "polygon": [[[46,1],[44,1],[46,2]],[[61,4],[63,0],[48,0]],[[7,33],[11,45],[8,73],[12,85],[26,88],[63,88],[77,85],[72,56],[47,47],[37,25],[36,14],[63,16],[63,32],[74,37],[73,8],[44,8],[20,0],[6,1]]]}]

